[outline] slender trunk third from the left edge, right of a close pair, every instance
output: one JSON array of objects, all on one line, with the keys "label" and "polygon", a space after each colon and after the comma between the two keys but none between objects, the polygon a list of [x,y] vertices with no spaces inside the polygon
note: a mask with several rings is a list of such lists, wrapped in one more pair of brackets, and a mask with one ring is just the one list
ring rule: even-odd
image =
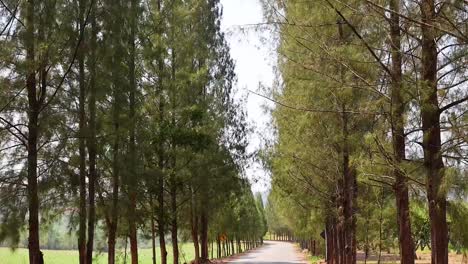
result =
[{"label": "slender trunk third from the left edge, right of a close pair", "polygon": [[89,65],[89,138],[88,138],[88,158],[89,158],[89,176],[88,176],[88,242],[86,243],[86,264],[93,263],[94,249],[94,228],[96,221],[96,205],[95,205],[95,186],[97,182],[96,171],[96,3],[93,2],[91,10],[91,36],[90,36],[90,65]]}]

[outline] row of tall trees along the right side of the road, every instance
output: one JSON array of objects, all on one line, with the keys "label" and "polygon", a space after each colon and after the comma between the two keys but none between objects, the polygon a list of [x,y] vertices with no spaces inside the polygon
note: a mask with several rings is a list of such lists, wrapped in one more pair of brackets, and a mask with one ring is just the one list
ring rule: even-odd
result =
[{"label": "row of tall trees along the right side of the road", "polygon": [[449,244],[466,250],[466,2],[265,1],[265,10],[278,32],[270,203],[300,215],[274,226],[317,238],[325,229],[329,263],[356,263],[358,249],[395,239],[388,247],[411,264],[425,225],[412,215],[426,212],[432,263],[448,263]]}]

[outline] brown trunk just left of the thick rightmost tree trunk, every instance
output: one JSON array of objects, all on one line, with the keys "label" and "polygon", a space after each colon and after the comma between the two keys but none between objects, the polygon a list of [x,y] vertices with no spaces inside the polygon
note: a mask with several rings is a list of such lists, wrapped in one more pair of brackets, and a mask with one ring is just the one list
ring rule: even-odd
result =
[{"label": "brown trunk just left of the thick rightmost tree trunk", "polygon": [[404,111],[402,99],[402,57],[400,31],[400,1],[390,0],[390,37],[392,49],[392,140],[395,176],[395,198],[397,206],[398,239],[402,264],[414,264],[414,242],[409,215],[408,181],[401,169],[405,159]]}]

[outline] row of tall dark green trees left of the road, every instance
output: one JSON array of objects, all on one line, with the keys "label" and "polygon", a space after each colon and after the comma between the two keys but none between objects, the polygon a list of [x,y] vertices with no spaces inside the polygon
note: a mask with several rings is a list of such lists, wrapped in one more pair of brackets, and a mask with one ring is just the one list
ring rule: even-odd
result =
[{"label": "row of tall dark green trees left of the road", "polygon": [[18,245],[26,228],[41,263],[41,226],[63,215],[80,264],[96,227],[108,263],[119,238],[138,263],[139,233],[153,256],[159,238],[163,264],[167,234],[174,263],[183,231],[196,263],[221,234],[260,240],[218,0],[4,0],[0,12],[0,240]]}]

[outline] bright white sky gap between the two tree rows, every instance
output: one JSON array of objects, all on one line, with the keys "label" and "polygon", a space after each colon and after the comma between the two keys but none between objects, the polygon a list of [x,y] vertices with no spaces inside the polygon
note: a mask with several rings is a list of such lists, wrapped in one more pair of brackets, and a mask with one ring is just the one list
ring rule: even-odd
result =
[{"label": "bright white sky gap between the two tree rows", "polygon": [[[253,152],[262,145],[262,138],[271,135],[270,115],[264,106],[271,107],[269,102],[258,95],[249,93],[259,91],[260,84],[271,87],[274,80],[274,56],[271,48],[262,44],[262,37],[270,33],[258,32],[251,28],[241,32],[243,25],[257,24],[263,19],[262,6],[259,0],[221,0],[223,6],[222,30],[227,34],[231,47],[231,57],[235,61],[237,75],[237,96],[248,96],[246,102],[248,122],[253,128],[248,150]],[[262,93],[262,92],[259,92]],[[267,136],[268,137],[268,136]],[[254,162],[246,170],[254,192],[266,193],[269,189],[269,175],[259,163]]]}]

